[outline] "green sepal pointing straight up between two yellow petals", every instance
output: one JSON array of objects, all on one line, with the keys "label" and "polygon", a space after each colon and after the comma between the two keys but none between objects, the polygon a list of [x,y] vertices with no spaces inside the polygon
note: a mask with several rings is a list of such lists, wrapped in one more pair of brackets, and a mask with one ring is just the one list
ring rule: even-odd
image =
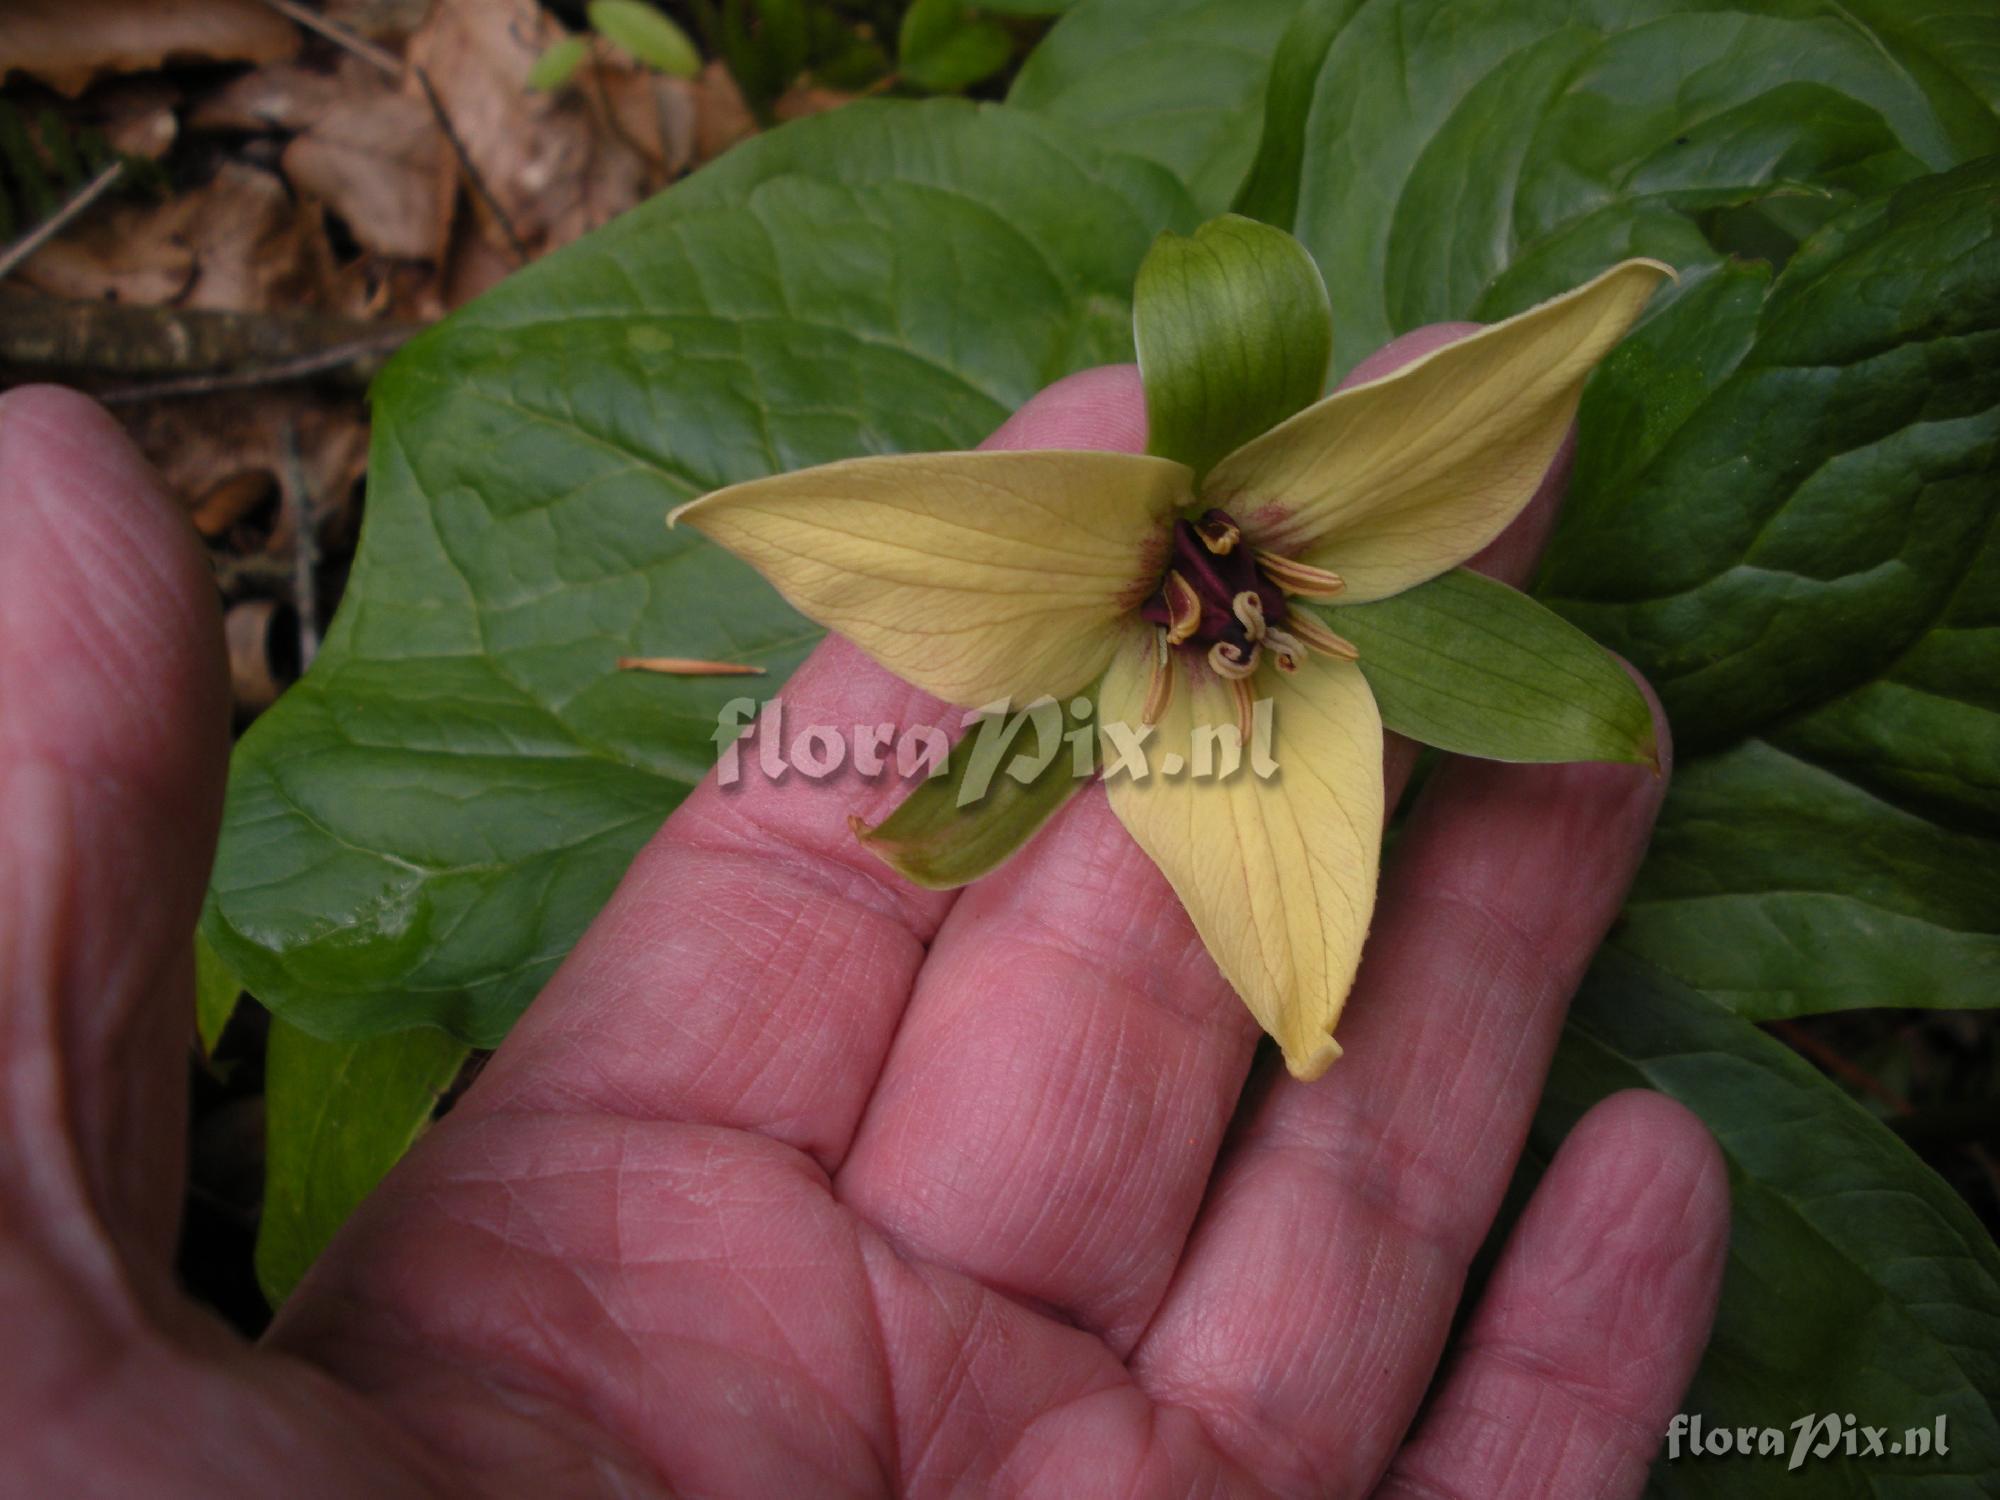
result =
[{"label": "green sepal pointing straight up between two yellow petals", "polygon": [[1162,234],[1132,298],[1146,452],[1196,480],[1326,386],[1326,284],[1282,230],[1226,214],[1194,234]]}]

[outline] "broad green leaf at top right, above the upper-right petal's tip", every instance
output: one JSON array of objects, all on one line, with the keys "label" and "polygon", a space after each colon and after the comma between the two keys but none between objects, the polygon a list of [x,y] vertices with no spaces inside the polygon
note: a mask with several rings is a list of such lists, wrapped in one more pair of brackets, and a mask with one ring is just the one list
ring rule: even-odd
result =
[{"label": "broad green leaf at top right, above the upper-right petal's tip", "polygon": [[1996,32],[1990,0],[1314,0],[1238,208],[1312,250],[1346,370],[1626,256],[1716,264],[1742,204],[2000,150]]}]

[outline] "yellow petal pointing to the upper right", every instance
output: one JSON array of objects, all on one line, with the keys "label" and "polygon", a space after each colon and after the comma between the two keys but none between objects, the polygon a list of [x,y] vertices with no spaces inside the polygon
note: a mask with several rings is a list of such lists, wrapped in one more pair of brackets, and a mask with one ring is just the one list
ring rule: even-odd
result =
[{"label": "yellow petal pointing to the upper right", "polygon": [[1674,272],[1626,260],[1574,292],[1252,438],[1202,486],[1260,548],[1338,572],[1342,604],[1456,568],[1534,498],[1584,378]]}]

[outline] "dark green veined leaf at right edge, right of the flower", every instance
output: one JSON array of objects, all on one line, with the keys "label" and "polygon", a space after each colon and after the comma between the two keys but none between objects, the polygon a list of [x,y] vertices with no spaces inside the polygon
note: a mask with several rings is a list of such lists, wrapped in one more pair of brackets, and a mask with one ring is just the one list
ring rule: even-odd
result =
[{"label": "dark green veined leaf at right edge, right of the flower", "polygon": [[[2000,508],[2000,158],[1854,210],[1758,306],[1746,284],[1690,290],[1606,362],[1538,588],[1646,672],[1688,750],[1988,608],[1954,600]],[[1978,630],[1944,654],[1970,684]]]}]

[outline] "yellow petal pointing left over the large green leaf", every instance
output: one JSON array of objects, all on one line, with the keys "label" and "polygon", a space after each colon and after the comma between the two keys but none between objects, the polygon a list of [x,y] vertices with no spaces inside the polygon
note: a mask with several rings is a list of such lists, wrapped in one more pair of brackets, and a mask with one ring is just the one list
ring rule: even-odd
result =
[{"label": "yellow petal pointing left over the large green leaf", "polygon": [[1110,452],[896,454],[734,484],[672,516],[946,702],[1066,694],[1166,566],[1190,474]]}]

